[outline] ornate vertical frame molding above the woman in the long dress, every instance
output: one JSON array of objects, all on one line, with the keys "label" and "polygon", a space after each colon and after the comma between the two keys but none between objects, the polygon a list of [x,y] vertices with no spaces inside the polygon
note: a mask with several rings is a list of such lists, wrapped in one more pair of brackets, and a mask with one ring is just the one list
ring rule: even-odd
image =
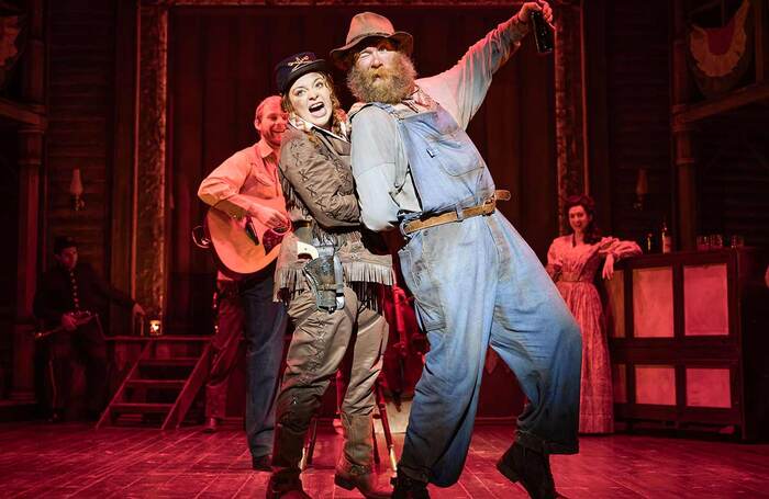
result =
[{"label": "ornate vertical frame molding above the woman in the long dress", "polygon": [[559,2],[554,55],[558,219],[561,231],[567,227],[565,199],[584,192],[586,188],[580,18],[579,2]]}]

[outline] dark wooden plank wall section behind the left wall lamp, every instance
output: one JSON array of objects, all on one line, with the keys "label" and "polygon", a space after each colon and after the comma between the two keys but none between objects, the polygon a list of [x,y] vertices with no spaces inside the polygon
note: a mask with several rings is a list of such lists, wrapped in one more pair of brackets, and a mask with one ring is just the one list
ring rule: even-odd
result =
[{"label": "dark wooden plank wall section behind the left wall lamp", "polygon": [[[51,1],[48,116],[45,160],[46,259],[53,239],[70,235],[80,258],[109,276],[110,168],[114,105],[114,1]],[[69,195],[79,168],[85,209]]]}]

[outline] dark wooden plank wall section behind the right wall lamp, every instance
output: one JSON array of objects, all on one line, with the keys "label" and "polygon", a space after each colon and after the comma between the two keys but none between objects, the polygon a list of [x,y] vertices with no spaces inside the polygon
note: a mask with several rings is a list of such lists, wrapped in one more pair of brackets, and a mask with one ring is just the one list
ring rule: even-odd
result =
[{"label": "dark wooden plank wall section behind the right wall lamp", "polygon": [[[640,242],[672,218],[668,2],[606,1],[604,15],[610,205],[599,209],[611,212],[605,233]],[[633,207],[639,168],[643,211]]]}]

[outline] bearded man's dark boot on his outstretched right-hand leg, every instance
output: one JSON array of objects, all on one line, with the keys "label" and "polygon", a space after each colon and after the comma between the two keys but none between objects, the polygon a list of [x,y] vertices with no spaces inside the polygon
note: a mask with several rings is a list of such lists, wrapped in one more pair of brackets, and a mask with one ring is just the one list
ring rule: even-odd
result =
[{"label": "bearded man's dark boot on his outstretched right-hand leg", "polygon": [[550,461],[546,454],[515,442],[497,462],[497,469],[510,481],[521,481],[533,499],[558,497],[550,472]]}]

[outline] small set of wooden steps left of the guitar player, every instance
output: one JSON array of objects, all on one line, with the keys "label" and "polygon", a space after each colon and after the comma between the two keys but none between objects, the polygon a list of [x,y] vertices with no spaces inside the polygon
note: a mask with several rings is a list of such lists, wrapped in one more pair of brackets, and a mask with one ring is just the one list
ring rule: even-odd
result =
[{"label": "small set of wooden steps left of the guitar player", "polygon": [[210,337],[149,337],[96,428],[160,423],[178,429],[209,377]]}]

